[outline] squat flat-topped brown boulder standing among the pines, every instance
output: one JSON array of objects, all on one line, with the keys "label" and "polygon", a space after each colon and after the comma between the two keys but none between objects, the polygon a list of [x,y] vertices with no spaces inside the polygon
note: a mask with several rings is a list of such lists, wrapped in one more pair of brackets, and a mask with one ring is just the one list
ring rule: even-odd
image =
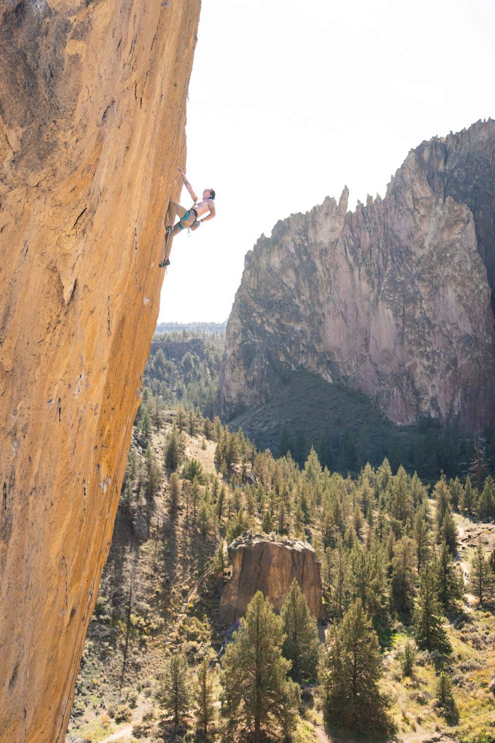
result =
[{"label": "squat flat-topped brown boulder standing among the pines", "polygon": [[312,614],[317,619],[324,617],[320,563],[307,542],[274,542],[260,534],[240,536],[229,545],[229,557],[232,577],[220,599],[220,619],[224,623],[232,624],[243,617],[256,591],[262,591],[272,600],[275,611],[280,611],[294,579]]}]

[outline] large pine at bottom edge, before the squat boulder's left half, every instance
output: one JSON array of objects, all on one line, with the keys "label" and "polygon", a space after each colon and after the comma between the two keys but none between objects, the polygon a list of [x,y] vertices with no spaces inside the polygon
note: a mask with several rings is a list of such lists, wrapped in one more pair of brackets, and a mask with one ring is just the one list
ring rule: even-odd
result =
[{"label": "large pine at bottom edge, before the squat boulder's left half", "polygon": [[222,658],[221,714],[230,739],[247,729],[252,741],[260,743],[263,730],[273,734],[295,727],[300,694],[286,678],[291,663],[283,658],[283,640],[281,617],[258,591]]}]

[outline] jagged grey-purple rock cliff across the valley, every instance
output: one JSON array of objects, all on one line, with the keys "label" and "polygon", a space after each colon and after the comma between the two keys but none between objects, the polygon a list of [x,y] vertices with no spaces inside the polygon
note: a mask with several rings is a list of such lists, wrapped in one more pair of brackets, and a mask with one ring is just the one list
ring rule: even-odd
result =
[{"label": "jagged grey-purple rock cliff across the valley", "polygon": [[422,143],[383,200],[347,189],[246,256],[220,369],[223,417],[298,366],[366,392],[392,421],[494,421],[495,122]]}]

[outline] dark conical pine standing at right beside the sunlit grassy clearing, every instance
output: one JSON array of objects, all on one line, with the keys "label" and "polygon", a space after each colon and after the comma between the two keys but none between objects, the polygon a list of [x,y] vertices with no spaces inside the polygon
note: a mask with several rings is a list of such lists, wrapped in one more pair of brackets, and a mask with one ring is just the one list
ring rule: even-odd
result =
[{"label": "dark conical pine standing at right beside the sunlit grassy clearing", "polygon": [[442,606],[436,591],[435,576],[427,562],[419,580],[418,600],[413,611],[416,644],[420,649],[451,651],[442,623]]}]

